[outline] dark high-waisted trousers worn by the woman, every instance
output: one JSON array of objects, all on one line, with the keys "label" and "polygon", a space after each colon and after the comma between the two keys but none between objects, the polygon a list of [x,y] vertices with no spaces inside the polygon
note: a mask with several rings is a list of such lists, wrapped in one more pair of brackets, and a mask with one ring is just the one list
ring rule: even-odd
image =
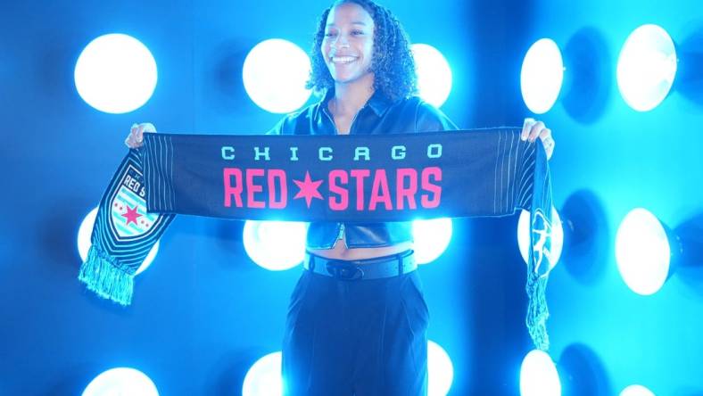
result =
[{"label": "dark high-waisted trousers worn by the woman", "polygon": [[425,396],[429,312],[418,271],[338,280],[303,270],[283,344],[287,396]]}]

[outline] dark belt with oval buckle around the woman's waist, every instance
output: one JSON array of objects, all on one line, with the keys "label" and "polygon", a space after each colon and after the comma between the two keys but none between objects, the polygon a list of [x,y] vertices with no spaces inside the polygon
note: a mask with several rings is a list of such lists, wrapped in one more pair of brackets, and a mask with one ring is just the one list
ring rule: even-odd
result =
[{"label": "dark belt with oval buckle around the woman's waist", "polygon": [[340,280],[379,279],[407,274],[418,268],[412,250],[364,260],[334,260],[305,253],[302,267]]}]

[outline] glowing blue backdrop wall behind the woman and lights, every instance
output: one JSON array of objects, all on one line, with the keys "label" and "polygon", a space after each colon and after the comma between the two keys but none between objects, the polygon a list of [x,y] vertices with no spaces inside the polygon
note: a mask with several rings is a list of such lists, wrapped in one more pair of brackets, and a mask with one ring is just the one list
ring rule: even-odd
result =
[{"label": "glowing blue backdrop wall behind the woman and lights", "polygon": [[[442,111],[461,128],[520,125],[530,115],[519,91],[523,54],[538,38],[557,41],[566,86],[539,118],[558,142],[550,162],[555,203],[586,235],[566,250],[548,292],[550,354],[565,393],[608,395],[644,384],[658,395],[703,394],[700,268],[679,268],[659,293],[641,297],[624,285],[614,254],[616,228],[634,207],[672,228],[700,224],[703,85],[693,61],[703,52],[703,5],[384,4],[413,42],[434,45],[451,63],[454,87]],[[79,284],[76,235],[125,154],[132,123],[211,134],[273,126],[279,116],[244,94],[244,56],[273,37],[307,50],[325,5],[0,5],[0,394],[79,394],[95,375],[120,366],[145,372],[163,395],[239,394],[248,367],[280,350],[300,268],[254,265],[244,253],[243,223],[176,219],[126,309]],[[686,54],[671,95],[639,113],[620,97],[615,70],[624,39],[643,23],[667,29]],[[95,111],[73,84],[83,47],[116,32],[141,40],[159,67],[152,99],[121,115]],[[421,268],[429,337],[454,365],[452,395],[517,394],[530,342],[516,225],[516,217],[455,220],[448,251]]]}]

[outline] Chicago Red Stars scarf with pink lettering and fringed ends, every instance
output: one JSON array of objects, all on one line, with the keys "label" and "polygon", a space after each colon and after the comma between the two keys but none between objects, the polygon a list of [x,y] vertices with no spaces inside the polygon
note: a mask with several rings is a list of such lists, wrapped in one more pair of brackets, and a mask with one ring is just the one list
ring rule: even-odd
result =
[{"label": "Chicago Red Stars scarf with pink lettering and fringed ends", "polygon": [[385,222],[529,210],[526,325],[546,351],[551,186],[518,128],[349,136],[145,134],[103,194],[79,279],[128,305],[136,269],[175,214]]}]

